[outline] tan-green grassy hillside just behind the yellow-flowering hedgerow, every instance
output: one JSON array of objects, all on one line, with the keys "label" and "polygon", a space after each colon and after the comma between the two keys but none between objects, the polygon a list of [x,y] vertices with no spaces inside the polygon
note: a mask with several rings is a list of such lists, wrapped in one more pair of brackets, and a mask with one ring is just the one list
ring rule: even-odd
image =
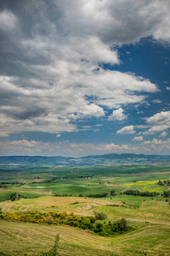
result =
[{"label": "tan-green grassy hillside just behind the yellow-flowering hedgerow", "polygon": [[[139,207],[129,207],[127,203],[130,205],[130,202],[133,205],[139,205]],[[0,203],[0,207],[3,212],[48,212],[50,209],[54,212],[75,212],[79,215],[94,215],[94,212],[105,212],[111,219],[127,218],[170,224],[168,201],[163,199],[156,201],[156,199],[151,200],[150,197],[143,198],[133,195],[112,196],[111,199],[44,196],[35,199],[21,199],[20,201],[4,201]]]}]

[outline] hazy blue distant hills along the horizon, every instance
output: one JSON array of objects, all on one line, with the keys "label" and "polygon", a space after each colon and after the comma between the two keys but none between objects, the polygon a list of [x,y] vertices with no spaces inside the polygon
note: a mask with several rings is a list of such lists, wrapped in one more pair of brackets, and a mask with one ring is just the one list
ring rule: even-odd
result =
[{"label": "hazy blue distant hills along the horizon", "polygon": [[157,154],[103,154],[88,155],[85,157],[64,157],[64,156],[0,156],[1,165],[36,165],[36,166],[84,166],[94,164],[114,164],[114,163],[144,163],[144,162],[170,162],[170,155]]}]

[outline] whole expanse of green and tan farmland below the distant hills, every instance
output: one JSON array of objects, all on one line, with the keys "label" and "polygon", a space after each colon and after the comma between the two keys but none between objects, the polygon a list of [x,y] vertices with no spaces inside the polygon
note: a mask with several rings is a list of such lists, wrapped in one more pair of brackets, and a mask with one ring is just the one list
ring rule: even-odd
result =
[{"label": "whole expanse of green and tan farmland below the distant hills", "polygon": [[[4,165],[1,177],[0,208],[6,216],[35,212],[29,214],[52,218],[48,216],[66,212],[68,216],[87,219],[103,212],[107,218],[96,220],[96,227],[125,218],[129,228],[114,236],[101,236],[104,233],[74,227],[61,220],[38,224],[0,218],[0,255],[40,255],[53,247],[57,234],[59,255],[167,256],[170,253],[168,163]],[[137,195],[131,191],[137,191]],[[16,197],[11,197],[12,194]]]}]

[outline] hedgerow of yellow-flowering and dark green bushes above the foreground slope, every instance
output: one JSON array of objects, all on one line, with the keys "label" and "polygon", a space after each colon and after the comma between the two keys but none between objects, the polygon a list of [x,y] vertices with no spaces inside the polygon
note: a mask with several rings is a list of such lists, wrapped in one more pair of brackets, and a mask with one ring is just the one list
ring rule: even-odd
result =
[{"label": "hedgerow of yellow-flowering and dark green bushes above the foreground slope", "polygon": [[74,212],[21,212],[9,213],[3,212],[0,218],[8,221],[31,222],[35,224],[66,224],[78,227],[82,230],[92,230],[100,236],[114,236],[127,232],[127,221],[122,218],[114,223],[99,223],[99,220],[107,218],[104,212],[94,212],[94,216],[77,216]]}]

